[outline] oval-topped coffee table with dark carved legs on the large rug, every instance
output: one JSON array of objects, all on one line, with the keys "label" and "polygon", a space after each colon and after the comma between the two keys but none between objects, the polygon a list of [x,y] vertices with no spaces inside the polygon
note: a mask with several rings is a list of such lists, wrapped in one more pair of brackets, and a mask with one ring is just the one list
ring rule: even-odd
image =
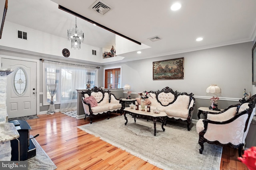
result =
[{"label": "oval-topped coffee table with dark carved legs on the large rug", "polygon": [[124,123],[125,125],[127,124],[128,120],[126,117],[126,114],[131,115],[134,117],[134,122],[136,122],[136,118],[138,119],[146,119],[146,120],[152,120],[154,122],[154,135],[156,136],[156,121],[159,121],[162,123],[162,129],[164,129],[164,124],[166,123],[167,115],[165,112],[160,112],[158,114],[154,113],[153,111],[147,112],[139,110],[135,110],[135,108],[131,109],[130,107],[126,107],[124,109],[124,119],[126,122]]}]

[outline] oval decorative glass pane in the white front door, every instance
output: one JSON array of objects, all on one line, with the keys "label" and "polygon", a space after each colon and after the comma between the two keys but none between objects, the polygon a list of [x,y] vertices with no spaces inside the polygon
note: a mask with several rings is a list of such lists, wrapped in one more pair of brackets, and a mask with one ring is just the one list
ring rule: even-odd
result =
[{"label": "oval decorative glass pane in the white front door", "polygon": [[22,67],[17,68],[14,72],[13,86],[18,96],[22,96],[26,92],[27,74]]}]

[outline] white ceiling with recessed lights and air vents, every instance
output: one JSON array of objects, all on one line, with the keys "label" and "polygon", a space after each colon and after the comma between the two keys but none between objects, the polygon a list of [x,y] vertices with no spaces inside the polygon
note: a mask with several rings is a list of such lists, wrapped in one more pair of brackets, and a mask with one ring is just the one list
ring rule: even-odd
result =
[{"label": "white ceiling with recessed lights and air vents", "polygon": [[[149,49],[122,54],[125,60],[158,57],[253,41],[256,35],[256,0],[104,0],[113,7],[104,16],[89,7],[95,0],[8,0],[6,21],[67,37],[75,17],[58,4],[131,39]],[[180,2],[178,11],[170,6]],[[85,44],[110,49],[115,35],[77,18]],[[148,38],[161,38],[152,42]],[[197,42],[196,38],[203,37]]]}]

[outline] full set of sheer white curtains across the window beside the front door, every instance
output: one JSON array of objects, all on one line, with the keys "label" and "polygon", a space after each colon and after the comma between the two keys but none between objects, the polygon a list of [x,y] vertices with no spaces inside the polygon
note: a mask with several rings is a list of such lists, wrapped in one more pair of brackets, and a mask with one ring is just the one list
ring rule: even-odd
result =
[{"label": "full set of sheer white curtains across the window beside the front door", "polygon": [[[86,82],[88,81],[91,84],[91,88],[98,83],[96,82],[96,76],[98,74],[96,68],[46,60],[44,63],[46,70],[46,85],[51,95],[49,113],[55,113],[54,100],[60,102],[61,112],[76,110],[76,90],[86,89]],[[57,79],[57,77],[60,78]],[[59,88],[57,92],[58,84]],[[56,92],[57,96],[54,97]]]}]

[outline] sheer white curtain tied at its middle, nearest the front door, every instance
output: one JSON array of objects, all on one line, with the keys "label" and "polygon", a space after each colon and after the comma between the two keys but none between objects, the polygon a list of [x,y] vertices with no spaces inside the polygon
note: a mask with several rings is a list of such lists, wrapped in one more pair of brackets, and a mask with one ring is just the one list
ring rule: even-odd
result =
[{"label": "sheer white curtain tied at its middle, nearest the front door", "polygon": [[44,61],[45,63],[45,82],[48,88],[48,91],[51,96],[50,106],[46,114],[54,114],[55,106],[54,106],[54,95],[57,92],[59,78],[60,78],[60,63],[56,63],[53,61]]}]

